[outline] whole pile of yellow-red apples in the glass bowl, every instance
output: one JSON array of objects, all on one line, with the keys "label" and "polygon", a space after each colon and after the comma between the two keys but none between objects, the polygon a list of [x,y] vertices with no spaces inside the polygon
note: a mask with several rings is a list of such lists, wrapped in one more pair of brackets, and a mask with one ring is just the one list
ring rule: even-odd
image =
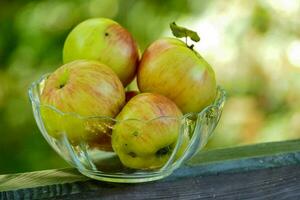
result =
[{"label": "whole pile of yellow-red apples in the glass bowl", "polygon": [[[175,36],[195,34],[175,23],[171,28]],[[193,34],[191,39],[198,41]],[[131,34],[111,19],[78,24],[65,40],[63,63],[45,80],[41,104],[75,115],[58,119],[51,109],[41,107],[49,134],[65,134],[74,145],[84,141],[114,151],[129,168],[163,166],[178,140],[182,116],[200,112],[216,96],[214,71],[192,45],[160,38],[140,55]],[[127,91],[135,78],[139,91]],[[95,134],[82,128],[76,116],[107,117],[114,123],[111,131]],[[189,136],[183,138],[181,148]]]}]

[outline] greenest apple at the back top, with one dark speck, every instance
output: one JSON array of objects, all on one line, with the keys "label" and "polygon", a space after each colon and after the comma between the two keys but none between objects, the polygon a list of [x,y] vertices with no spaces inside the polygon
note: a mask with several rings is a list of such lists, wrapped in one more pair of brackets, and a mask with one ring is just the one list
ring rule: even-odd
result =
[{"label": "greenest apple at the back top, with one dark speck", "polygon": [[94,18],[78,24],[67,36],[63,61],[97,60],[118,75],[124,86],[129,84],[139,62],[139,50],[130,33],[117,22]]}]

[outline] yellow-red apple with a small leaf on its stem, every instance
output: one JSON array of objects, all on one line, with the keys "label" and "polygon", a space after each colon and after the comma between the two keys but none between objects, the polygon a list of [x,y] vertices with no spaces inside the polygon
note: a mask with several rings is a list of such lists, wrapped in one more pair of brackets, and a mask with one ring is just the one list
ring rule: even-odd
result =
[{"label": "yellow-red apple with a small leaf on its stem", "polygon": [[183,113],[201,111],[213,102],[217,91],[211,66],[175,38],[156,40],[144,51],[137,82],[141,92],[162,94]]}]

